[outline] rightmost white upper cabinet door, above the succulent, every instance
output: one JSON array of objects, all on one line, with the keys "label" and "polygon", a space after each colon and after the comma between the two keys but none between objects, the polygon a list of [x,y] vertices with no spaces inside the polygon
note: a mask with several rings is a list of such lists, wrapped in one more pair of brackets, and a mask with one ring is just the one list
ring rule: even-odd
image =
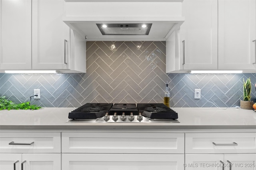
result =
[{"label": "rightmost white upper cabinet door, above the succulent", "polygon": [[256,0],[219,0],[218,69],[255,69]]}]

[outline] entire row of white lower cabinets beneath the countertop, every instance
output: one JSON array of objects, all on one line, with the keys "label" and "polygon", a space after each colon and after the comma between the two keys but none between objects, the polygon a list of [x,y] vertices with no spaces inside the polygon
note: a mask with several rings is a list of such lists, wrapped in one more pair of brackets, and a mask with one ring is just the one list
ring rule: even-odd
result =
[{"label": "entire row of white lower cabinets beneath the countertop", "polygon": [[0,170],[87,169],[256,170],[256,132],[101,129],[0,133]]}]

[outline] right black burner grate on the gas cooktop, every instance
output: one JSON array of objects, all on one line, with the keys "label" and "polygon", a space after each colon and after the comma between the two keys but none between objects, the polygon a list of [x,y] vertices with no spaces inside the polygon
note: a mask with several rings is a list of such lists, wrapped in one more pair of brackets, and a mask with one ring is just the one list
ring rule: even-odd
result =
[{"label": "right black burner grate on the gas cooktop", "polygon": [[150,119],[178,119],[178,113],[163,103],[138,103],[138,111]]}]

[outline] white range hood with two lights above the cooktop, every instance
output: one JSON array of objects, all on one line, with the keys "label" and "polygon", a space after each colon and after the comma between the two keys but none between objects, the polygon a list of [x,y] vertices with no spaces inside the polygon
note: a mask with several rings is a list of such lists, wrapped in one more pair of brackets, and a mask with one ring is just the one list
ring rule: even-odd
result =
[{"label": "white range hood with two lights above the cooktop", "polygon": [[87,41],[165,41],[184,22],[182,2],[66,2],[65,22]]}]

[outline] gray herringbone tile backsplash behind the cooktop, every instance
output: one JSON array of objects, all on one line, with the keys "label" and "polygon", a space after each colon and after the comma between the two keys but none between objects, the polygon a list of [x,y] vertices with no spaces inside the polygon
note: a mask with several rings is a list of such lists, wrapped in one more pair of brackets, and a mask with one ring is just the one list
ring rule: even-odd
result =
[{"label": "gray herringbone tile backsplash behind the cooktop", "polygon": [[[80,107],[85,103],[163,103],[166,81],[171,107],[234,107],[242,99],[243,78],[254,73],[165,73],[165,42],[87,42],[86,73],[0,73],[0,96],[15,103],[30,100],[34,89],[42,107]],[[201,89],[201,99],[194,99]],[[252,88],[252,99],[256,91]]]}]

